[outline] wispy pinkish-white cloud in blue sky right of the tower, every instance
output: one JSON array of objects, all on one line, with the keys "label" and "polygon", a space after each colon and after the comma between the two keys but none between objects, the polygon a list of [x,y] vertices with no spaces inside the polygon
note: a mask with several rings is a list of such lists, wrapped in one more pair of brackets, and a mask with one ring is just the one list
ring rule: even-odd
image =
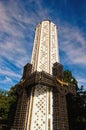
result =
[{"label": "wispy pinkish-white cloud in blue sky right of the tower", "polygon": [[60,49],[66,53],[66,61],[69,64],[86,65],[86,39],[82,32],[68,25],[61,28],[60,36]]}]

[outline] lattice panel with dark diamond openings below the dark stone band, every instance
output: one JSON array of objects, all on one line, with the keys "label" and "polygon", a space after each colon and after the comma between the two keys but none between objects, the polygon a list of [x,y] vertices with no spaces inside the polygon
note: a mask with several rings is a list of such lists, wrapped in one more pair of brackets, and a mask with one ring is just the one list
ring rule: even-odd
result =
[{"label": "lattice panel with dark diamond openings below the dark stone band", "polygon": [[46,130],[47,91],[45,86],[35,88],[31,130]]}]

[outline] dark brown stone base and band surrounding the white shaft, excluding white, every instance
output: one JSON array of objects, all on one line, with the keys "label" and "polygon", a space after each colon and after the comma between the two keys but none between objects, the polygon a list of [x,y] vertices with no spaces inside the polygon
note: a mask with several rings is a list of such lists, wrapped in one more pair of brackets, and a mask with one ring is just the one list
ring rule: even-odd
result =
[{"label": "dark brown stone base and band surrounding the white shaft, excluding white", "polygon": [[[56,67],[57,64],[57,67]],[[28,110],[30,105],[30,95],[32,88],[35,85],[45,85],[46,87],[52,87],[53,90],[53,130],[69,130],[68,126],[68,114],[67,114],[67,103],[66,103],[66,95],[71,93],[75,94],[76,90],[73,85],[69,86],[61,86],[56,81],[56,73],[58,67],[60,67],[59,75],[60,79],[62,78],[62,66],[58,66],[58,63],[53,67],[53,76],[42,71],[42,72],[34,72],[31,73],[31,70],[27,66],[30,67],[30,64],[24,67],[25,71],[23,74],[23,78],[19,84],[16,85],[17,93],[18,93],[18,104],[16,108],[16,114],[14,118],[14,123],[11,127],[11,130],[27,130],[27,118],[28,118]],[[61,69],[62,68],[62,69]],[[27,69],[29,70],[29,74]]]}]

